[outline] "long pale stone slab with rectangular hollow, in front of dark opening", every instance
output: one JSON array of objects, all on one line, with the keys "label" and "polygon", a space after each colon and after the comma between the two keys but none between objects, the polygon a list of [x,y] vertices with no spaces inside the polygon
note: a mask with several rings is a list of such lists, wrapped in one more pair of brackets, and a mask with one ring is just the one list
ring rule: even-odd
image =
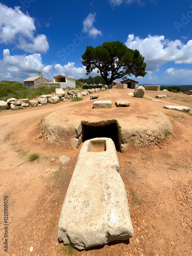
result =
[{"label": "long pale stone slab with rectangular hollow, in front of dark opening", "polygon": [[133,237],[126,190],[110,138],[83,143],[62,205],[58,239],[78,249]]}]

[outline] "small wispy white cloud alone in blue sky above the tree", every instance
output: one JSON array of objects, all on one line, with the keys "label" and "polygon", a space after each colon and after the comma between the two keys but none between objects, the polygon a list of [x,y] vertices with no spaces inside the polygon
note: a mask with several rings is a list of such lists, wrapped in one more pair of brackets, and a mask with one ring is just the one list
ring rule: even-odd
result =
[{"label": "small wispy white cloud alone in blue sky above the tree", "polygon": [[83,20],[83,32],[88,33],[90,36],[93,36],[96,38],[97,35],[102,35],[102,32],[98,29],[96,29],[93,26],[93,23],[96,22],[95,20],[96,13],[90,13],[87,18]]}]

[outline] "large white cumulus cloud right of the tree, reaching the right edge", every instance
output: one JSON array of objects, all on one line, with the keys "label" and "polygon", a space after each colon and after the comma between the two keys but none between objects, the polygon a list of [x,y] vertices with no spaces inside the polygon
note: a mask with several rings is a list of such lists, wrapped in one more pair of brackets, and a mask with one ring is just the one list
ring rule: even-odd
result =
[{"label": "large white cumulus cloud right of the tree, reaching the right edge", "polygon": [[137,49],[145,57],[147,71],[159,71],[159,67],[169,61],[176,64],[192,63],[192,40],[183,44],[180,40],[165,39],[163,35],[148,35],[146,38],[139,38],[129,34],[125,45],[130,49]]}]

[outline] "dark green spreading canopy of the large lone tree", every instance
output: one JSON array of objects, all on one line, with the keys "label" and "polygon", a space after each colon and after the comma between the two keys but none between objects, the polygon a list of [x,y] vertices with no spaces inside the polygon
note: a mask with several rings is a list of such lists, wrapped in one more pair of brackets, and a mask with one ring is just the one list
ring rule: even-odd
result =
[{"label": "dark green spreading canopy of the large lone tree", "polygon": [[82,59],[87,75],[97,69],[106,84],[111,84],[113,80],[125,75],[137,77],[146,74],[144,57],[138,50],[129,49],[120,41],[104,42],[102,46],[95,48],[87,46]]}]

